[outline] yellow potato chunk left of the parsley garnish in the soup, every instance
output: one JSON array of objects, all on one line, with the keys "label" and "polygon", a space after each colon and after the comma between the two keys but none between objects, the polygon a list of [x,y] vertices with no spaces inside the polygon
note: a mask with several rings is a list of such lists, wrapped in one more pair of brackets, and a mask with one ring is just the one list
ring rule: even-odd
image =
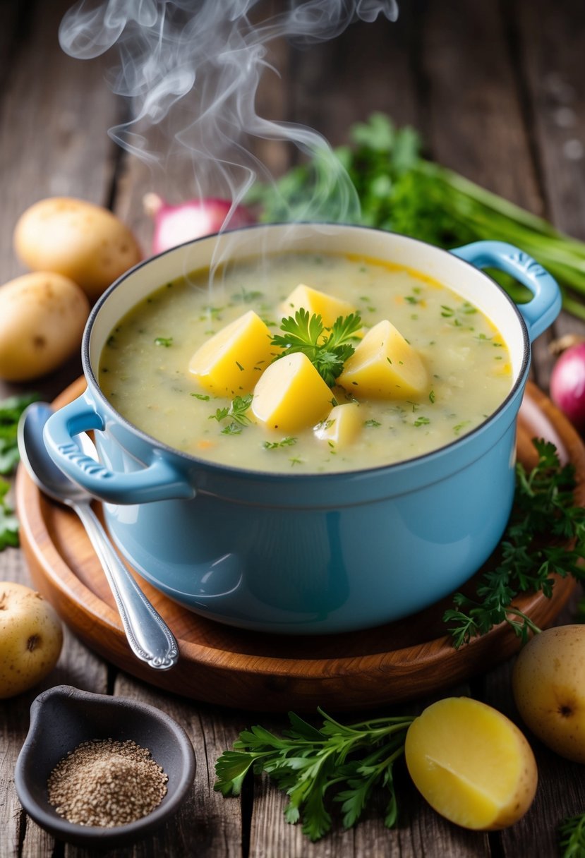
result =
[{"label": "yellow potato chunk left of the parsley garnish in the soup", "polygon": [[268,326],[250,310],[197,349],[189,372],[216,395],[249,393],[274,357],[271,339]]}]

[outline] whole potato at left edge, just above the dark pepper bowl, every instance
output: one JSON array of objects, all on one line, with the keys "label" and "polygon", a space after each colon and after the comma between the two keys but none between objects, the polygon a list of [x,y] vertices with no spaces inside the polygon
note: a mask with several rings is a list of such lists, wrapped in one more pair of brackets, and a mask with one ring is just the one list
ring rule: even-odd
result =
[{"label": "whole potato at left edge, just above the dark pepper bowl", "polygon": [[23,584],[0,582],[0,698],[37,685],[62,646],[63,626],[49,602]]}]

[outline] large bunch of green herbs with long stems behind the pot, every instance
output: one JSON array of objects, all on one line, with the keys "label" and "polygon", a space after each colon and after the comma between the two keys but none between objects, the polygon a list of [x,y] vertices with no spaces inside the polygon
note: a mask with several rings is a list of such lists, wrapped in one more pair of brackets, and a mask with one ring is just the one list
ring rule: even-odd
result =
[{"label": "large bunch of green herbs with long stems behind the pot", "polygon": [[[564,309],[585,318],[585,242],[560,233],[548,221],[426,160],[421,151],[416,130],[396,128],[383,113],[373,113],[367,122],[351,126],[348,146],[335,149],[329,157],[317,151],[310,161],[294,167],[278,182],[254,185],[248,202],[260,207],[262,221],[306,220],[308,212],[311,220],[341,220],[344,212],[335,176],[343,167],[359,198],[361,211],[356,220],[360,223],[446,248],[477,239],[509,241],[522,247],[557,279]],[[323,201],[319,191],[329,191],[329,197]],[[316,214],[311,200],[317,196]],[[509,276],[494,276],[516,300],[526,296],[523,287]]]}]

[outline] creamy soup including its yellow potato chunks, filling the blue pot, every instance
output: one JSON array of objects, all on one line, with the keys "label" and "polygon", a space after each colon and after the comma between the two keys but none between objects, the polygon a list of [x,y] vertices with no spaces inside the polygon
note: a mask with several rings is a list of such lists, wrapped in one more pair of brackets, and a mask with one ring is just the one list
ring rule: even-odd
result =
[{"label": "creamy soup including its yellow potato chunks, filling the blue pot", "polygon": [[[293,473],[377,467],[461,438],[510,392],[510,354],[492,322],[411,269],[284,253],[209,280],[196,271],[150,294],[100,357],[100,388],[119,414],[192,456]],[[294,333],[283,318],[309,329],[317,314],[319,344],[353,322],[335,378],[283,347]],[[262,356],[249,349],[255,337]]]}]

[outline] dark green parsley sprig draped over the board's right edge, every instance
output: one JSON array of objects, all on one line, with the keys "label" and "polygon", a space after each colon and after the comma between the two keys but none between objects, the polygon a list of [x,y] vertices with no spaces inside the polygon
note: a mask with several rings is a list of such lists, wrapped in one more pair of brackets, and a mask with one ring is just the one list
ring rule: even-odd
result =
[{"label": "dark green parsley sprig draped over the board's right edge", "polygon": [[457,648],[502,622],[526,641],[530,630],[539,630],[515,607],[516,597],[529,590],[550,597],[555,573],[585,578],[585,509],[575,502],[575,468],[561,466],[551,442],[533,444],[539,454],[534,468],[516,465],[515,503],[498,565],[481,577],[476,599],[457,593],[456,607],[443,614]]}]

